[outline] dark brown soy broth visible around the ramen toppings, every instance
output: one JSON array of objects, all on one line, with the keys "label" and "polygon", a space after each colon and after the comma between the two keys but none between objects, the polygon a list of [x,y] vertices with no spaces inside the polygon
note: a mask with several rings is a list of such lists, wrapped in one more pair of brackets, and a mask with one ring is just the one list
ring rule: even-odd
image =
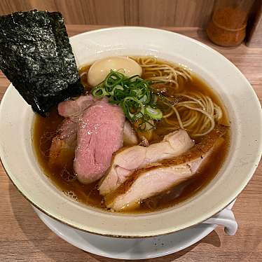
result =
[{"label": "dark brown soy broth visible around the ramen toppings", "polygon": [[[158,63],[161,64],[161,61],[158,60]],[[87,74],[85,74],[89,67],[90,66],[82,67],[79,71],[82,83],[85,85],[86,90],[90,89],[86,83]],[[226,111],[224,110],[219,97],[212,92],[211,88],[209,88],[206,83],[200,80],[197,76],[192,75],[192,80],[183,83],[183,85],[186,92],[198,90],[205,95],[209,95],[209,97],[211,97],[213,101],[216,102],[216,104],[218,104],[223,110],[223,118],[220,120],[220,123],[228,125]],[[48,165],[48,152],[50,145],[53,137],[57,134],[57,129],[63,119],[64,118],[58,115],[57,109],[53,109],[53,111],[50,112],[50,115],[46,118],[36,115],[33,135],[36,158],[44,174],[46,174],[46,176],[51,179],[57,188],[60,188],[65,195],[86,205],[97,207],[99,209],[106,209],[104,200],[99,195],[99,191],[97,190],[98,182],[84,185],[76,179],[73,167],[74,156],[69,156],[67,163],[64,163],[64,168],[62,169]],[[163,135],[171,132],[163,127],[165,127],[165,124],[160,121],[157,124],[156,130],[153,131],[153,140],[158,140],[160,137],[163,137]],[[141,202],[140,207],[132,213],[153,212],[166,207],[172,207],[177,203],[190,198],[192,195],[195,195],[195,193],[204,188],[205,185],[207,185],[209,181],[214,178],[217,172],[219,172],[219,169],[223,165],[223,161],[226,158],[229,147],[229,131],[226,135],[224,135],[224,139],[225,142],[219,151],[209,160],[210,164],[206,165],[205,169],[201,170],[198,174],[195,174],[195,176],[188,179],[188,181],[185,181],[178,186],[174,186],[174,188],[171,188],[169,191],[144,200]],[[198,143],[198,141],[199,139],[195,140],[196,143]]]}]

